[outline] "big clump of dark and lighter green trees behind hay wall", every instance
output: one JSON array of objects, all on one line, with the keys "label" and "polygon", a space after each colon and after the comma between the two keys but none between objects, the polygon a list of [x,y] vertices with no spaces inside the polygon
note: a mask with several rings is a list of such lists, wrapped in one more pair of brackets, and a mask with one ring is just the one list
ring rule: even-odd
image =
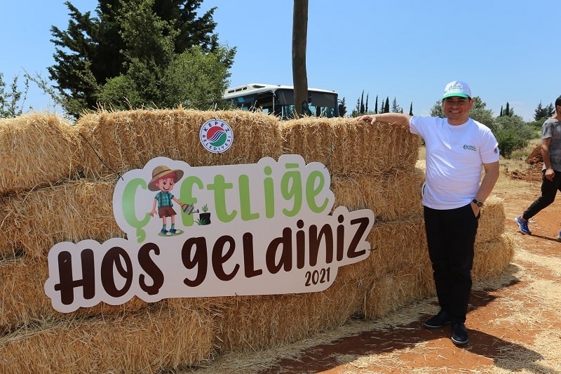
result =
[{"label": "big clump of dark and lighter green trees behind hay wall", "polygon": [[215,8],[198,17],[196,0],[99,0],[94,17],[65,4],[71,20],[51,27],[48,71],[69,114],[222,100],[236,48],[218,44]]}]

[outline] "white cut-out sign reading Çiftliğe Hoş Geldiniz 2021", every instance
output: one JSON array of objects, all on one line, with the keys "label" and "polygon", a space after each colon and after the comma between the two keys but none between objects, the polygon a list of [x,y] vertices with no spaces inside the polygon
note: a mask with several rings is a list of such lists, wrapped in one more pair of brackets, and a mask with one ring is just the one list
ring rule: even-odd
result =
[{"label": "white cut-out sign reading \u00c7iftli\u011fe Ho\u015f Geldiniz 2021", "polygon": [[157,157],[117,183],[127,239],[62,242],[48,254],[46,295],[60,312],[163,298],[309,293],[370,255],[369,209],[332,210],[322,163],[286,154],[191,167]]}]

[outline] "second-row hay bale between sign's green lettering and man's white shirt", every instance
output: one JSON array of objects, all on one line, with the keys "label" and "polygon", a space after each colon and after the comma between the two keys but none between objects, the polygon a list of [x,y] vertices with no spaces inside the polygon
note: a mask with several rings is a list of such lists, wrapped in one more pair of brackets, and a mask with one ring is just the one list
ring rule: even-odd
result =
[{"label": "second-row hay bale between sign's green lettering and man's white shirt", "polygon": [[419,169],[366,173],[332,178],[331,190],[335,207],[346,206],[349,211],[371,209],[376,220],[391,221],[422,214],[423,182],[424,173]]}]

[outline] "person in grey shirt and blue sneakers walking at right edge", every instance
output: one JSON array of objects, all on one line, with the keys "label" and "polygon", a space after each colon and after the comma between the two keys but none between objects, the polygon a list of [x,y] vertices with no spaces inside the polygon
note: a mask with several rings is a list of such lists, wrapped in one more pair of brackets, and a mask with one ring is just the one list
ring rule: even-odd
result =
[{"label": "person in grey shirt and blue sneakers walking at right edge", "polygon": [[[528,220],[553,203],[557,191],[561,191],[561,96],[555,100],[555,114],[541,126],[541,158],[541,196],[515,218],[522,234],[532,235]],[[561,232],[557,239],[561,239]]]}]

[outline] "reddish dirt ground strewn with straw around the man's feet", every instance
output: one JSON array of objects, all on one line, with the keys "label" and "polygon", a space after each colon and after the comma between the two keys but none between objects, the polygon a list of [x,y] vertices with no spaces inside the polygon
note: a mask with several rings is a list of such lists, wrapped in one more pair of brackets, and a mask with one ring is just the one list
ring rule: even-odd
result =
[{"label": "reddish dirt ground strewn with straw around the man's feet", "polygon": [[[476,283],[466,328],[457,347],[450,327],[427,330],[435,298],[420,300],[377,321],[341,328],[288,347],[223,356],[213,373],[561,373],[561,198],[530,222],[522,235],[514,218],[540,188],[539,167],[501,161],[494,194],[504,199],[505,231],[517,241],[504,274]],[[205,370],[203,370],[204,372]],[[196,370],[199,373],[199,370]]]}]

